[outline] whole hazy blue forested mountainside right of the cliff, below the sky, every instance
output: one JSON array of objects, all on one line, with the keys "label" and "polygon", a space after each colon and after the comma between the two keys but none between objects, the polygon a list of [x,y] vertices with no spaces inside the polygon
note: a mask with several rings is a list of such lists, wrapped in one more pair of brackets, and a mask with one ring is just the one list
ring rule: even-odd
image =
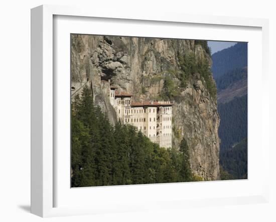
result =
[{"label": "whole hazy blue forested mountainside right of the cliff, below the sky", "polygon": [[220,126],[221,179],[247,178],[247,43],[212,55]]}]

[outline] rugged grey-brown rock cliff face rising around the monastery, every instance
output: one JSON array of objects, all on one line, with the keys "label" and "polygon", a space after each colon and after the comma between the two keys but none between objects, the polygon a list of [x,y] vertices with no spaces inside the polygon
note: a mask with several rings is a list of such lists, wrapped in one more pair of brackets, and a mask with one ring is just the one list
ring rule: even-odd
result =
[{"label": "rugged grey-brown rock cliff face rising around the monastery", "polygon": [[141,101],[164,98],[169,78],[170,90],[174,92],[170,96],[174,102],[173,145],[179,147],[185,138],[192,171],[205,180],[216,180],[220,178],[216,99],[198,73],[185,86],[181,84],[179,58],[186,54],[197,60],[205,59],[211,65],[210,56],[192,40],[72,35],[72,96],[89,85],[95,103],[115,123],[108,80],[119,90],[132,93],[134,100]]}]

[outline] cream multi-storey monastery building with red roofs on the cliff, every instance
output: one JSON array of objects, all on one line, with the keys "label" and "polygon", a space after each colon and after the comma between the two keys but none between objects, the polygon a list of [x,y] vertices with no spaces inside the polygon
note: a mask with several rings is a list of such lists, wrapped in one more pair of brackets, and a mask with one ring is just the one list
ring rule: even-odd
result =
[{"label": "cream multi-storey monastery building with red roofs on the cliff", "polygon": [[172,147],[172,106],[170,101],[131,101],[132,95],[110,87],[110,103],[122,124],[136,127],[161,147]]}]

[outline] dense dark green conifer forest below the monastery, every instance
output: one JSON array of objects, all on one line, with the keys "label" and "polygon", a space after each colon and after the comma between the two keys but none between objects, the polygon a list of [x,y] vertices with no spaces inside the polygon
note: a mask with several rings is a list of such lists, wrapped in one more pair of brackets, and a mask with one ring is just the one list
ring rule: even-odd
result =
[{"label": "dense dark green conifer forest below the monastery", "polygon": [[165,149],[130,125],[112,126],[93,104],[91,90],[75,97],[71,110],[71,186],[199,181],[185,139]]}]

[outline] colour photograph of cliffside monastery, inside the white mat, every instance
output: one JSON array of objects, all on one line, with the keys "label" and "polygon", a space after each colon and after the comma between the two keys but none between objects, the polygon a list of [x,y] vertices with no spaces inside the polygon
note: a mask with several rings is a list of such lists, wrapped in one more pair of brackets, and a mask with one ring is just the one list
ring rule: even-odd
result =
[{"label": "colour photograph of cliffside monastery, inside the white mat", "polygon": [[71,33],[70,73],[71,188],[247,179],[247,42]]}]

